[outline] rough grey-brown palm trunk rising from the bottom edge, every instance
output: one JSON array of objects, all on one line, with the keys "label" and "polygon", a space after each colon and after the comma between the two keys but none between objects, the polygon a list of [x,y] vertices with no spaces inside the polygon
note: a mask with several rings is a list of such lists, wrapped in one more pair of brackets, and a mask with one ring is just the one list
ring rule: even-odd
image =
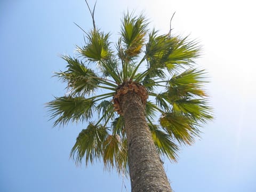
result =
[{"label": "rough grey-brown palm trunk rising from the bottom edge", "polygon": [[123,95],[121,108],[127,136],[132,192],[170,192],[145,116],[145,104],[134,92]]}]

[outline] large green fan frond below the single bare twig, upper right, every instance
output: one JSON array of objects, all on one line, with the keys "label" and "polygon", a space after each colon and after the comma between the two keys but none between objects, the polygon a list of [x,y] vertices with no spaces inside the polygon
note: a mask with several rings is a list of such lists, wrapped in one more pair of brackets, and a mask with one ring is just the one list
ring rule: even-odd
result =
[{"label": "large green fan frond below the single bare twig, upper right", "polygon": [[187,38],[157,35],[157,31],[153,29],[146,44],[148,70],[161,68],[172,73],[177,67],[194,63],[200,55],[201,48],[197,42],[189,41]]}]

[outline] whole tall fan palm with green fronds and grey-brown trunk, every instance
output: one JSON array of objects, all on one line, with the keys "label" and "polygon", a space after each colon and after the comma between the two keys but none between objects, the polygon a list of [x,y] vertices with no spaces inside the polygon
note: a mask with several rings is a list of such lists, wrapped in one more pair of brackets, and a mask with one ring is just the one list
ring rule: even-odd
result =
[{"label": "whole tall fan palm with green fronds and grey-brown trunk", "polygon": [[188,37],[150,31],[143,15],[124,14],[116,51],[94,19],[93,26],[55,73],[67,93],[47,103],[53,125],[86,123],[70,153],[77,164],[102,160],[129,173],[133,192],[172,191],[160,157],[176,161],[212,118],[206,74],[194,67],[201,49]]}]

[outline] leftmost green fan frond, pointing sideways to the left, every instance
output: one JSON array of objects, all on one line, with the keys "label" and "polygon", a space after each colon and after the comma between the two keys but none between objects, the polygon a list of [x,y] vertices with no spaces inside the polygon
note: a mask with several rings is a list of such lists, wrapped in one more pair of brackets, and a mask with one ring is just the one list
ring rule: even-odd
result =
[{"label": "leftmost green fan frond, pointing sideways to the left", "polygon": [[55,97],[46,103],[53,126],[65,125],[71,122],[87,121],[92,117],[95,103],[93,99],[84,97]]}]

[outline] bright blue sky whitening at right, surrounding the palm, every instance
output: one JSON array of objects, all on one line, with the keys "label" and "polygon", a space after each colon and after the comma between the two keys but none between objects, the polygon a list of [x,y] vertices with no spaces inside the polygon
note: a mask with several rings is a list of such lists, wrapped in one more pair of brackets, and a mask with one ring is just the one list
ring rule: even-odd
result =
[{"label": "bright blue sky whitening at right, surrounding the palm", "polygon": [[[249,0],[97,2],[96,24],[115,41],[127,9],[144,11],[162,33],[176,11],[173,33],[204,47],[198,65],[210,75],[215,119],[201,140],[182,148],[178,163],[165,162],[175,192],[256,191],[254,8]],[[101,163],[77,167],[69,159],[83,125],[52,128],[47,121],[44,103],[65,93],[51,78],[66,66],[58,55],[83,44],[73,22],[92,27],[84,0],[0,1],[0,191],[130,191],[129,180]]]}]

